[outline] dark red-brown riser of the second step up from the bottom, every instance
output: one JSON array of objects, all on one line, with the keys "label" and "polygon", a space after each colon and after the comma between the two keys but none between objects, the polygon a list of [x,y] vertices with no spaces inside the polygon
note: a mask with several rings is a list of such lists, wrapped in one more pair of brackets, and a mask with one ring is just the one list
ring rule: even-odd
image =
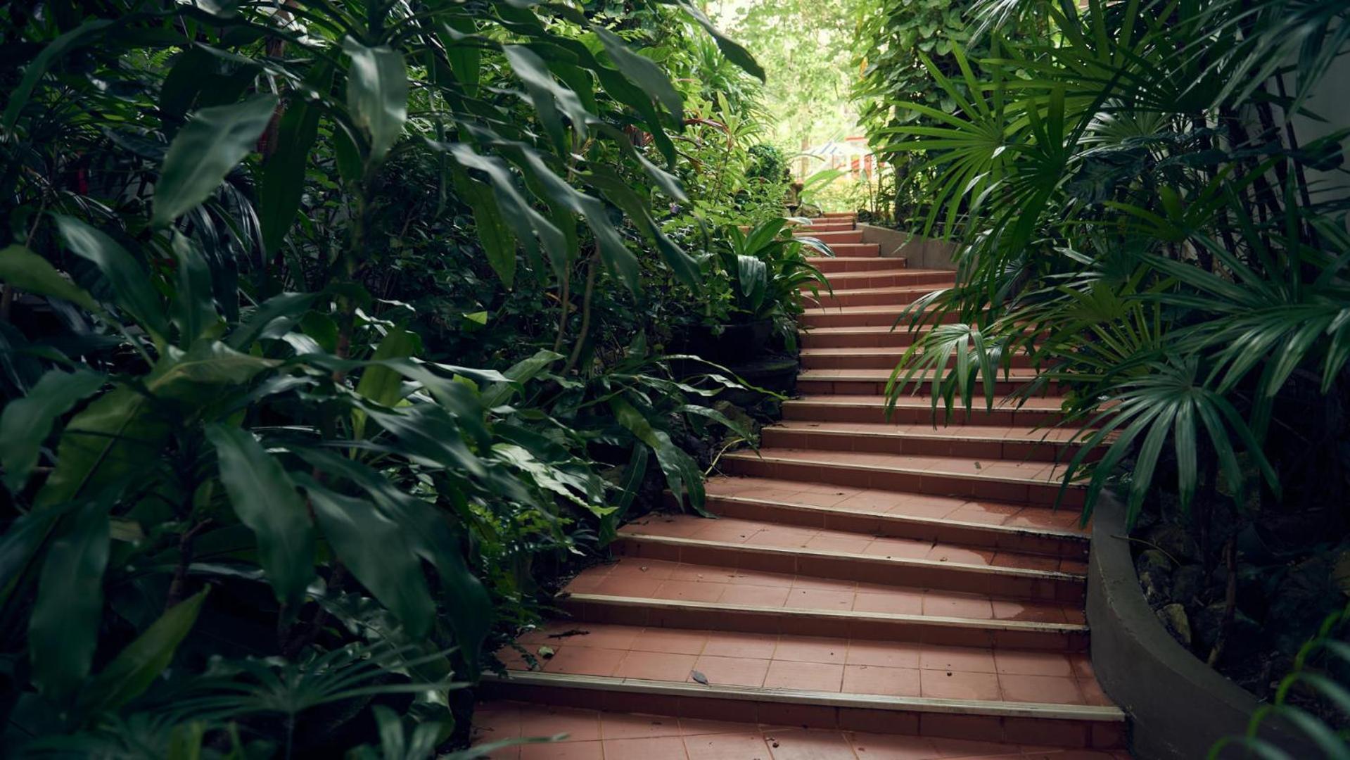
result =
[{"label": "dark red-brown riser of the second step up from the bottom", "polygon": [[988,628],[884,620],[865,616],[801,614],[783,610],[660,609],[628,603],[563,599],[562,607],[578,622],[603,622],[645,628],[734,630],[784,636],[865,639],[868,641],[915,641],[945,647],[1006,647],[1049,652],[1085,652],[1087,633],[1062,630],[1000,630]]}]

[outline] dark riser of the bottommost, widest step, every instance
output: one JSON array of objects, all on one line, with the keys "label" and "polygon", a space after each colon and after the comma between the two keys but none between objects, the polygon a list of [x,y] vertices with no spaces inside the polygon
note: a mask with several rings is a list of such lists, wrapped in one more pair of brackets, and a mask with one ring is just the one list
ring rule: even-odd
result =
[{"label": "dark riser of the bottommost, widest step", "polygon": [[729,690],[674,695],[639,687],[606,690],[591,684],[563,687],[489,679],[479,691],[490,699],[647,715],[678,715],[703,721],[1003,741],[1038,747],[1115,749],[1125,745],[1125,725],[1114,721],[810,705],[770,701],[764,695],[741,695]]}]

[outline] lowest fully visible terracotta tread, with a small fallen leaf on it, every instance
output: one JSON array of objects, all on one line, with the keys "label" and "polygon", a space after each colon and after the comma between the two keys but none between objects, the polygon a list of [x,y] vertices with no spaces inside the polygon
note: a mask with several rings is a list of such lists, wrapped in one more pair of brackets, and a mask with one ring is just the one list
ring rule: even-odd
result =
[{"label": "lowest fully visible terracotta tread, with a small fallen leaf on it", "polygon": [[[941,699],[957,710],[1007,702],[1073,706],[1084,718],[1116,715],[1081,653],[572,621],[525,633],[520,643],[531,653],[539,647],[554,651],[547,659],[536,656],[544,674],[722,687],[720,697],[726,688],[749,690],[741,697],[826,693]],[[510,671],[532,670],[516,649],[498,656]]]}]

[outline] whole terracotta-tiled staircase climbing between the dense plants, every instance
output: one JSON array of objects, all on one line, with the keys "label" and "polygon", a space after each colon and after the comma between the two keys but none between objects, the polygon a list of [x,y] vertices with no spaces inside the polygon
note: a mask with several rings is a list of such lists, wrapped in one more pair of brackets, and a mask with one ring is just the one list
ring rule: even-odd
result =
[{"label": "whole terracotta-tiled staircase climbing between the dense plants", "polygon": [[811,259],[834,293],[802,316],[801,397],[760,451],[722,458],[720,520],[624,526],[618,562],[567,587],[571,620],[521,637],[552,656],[500,652],[478,740],[570,734],[493,755],[521,759],[1127,757],[1087,655],[1087,536],[1052,509],[1066,436],[1034,429],[1060,400],[934,428],[913,396],[886,420],[913,340],[891,324],[952,273],[882,258],[852,215],[799,234],[836,252]]}]

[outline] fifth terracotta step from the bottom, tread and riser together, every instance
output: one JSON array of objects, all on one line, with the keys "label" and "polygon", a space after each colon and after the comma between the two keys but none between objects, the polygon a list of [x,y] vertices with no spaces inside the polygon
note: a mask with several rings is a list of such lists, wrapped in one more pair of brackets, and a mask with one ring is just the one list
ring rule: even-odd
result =
[{"label": "fifth terracotta step from the bottom, tread and riser together", "polygon": [[[986,462],[954,456],[907,456],[802,448],[761,448],[722,456],[728,475],[779,478],[884,491],[938,494],[1050,506],[1060,497],[1062,466],[1044,462]],[[1065,508],[1083,506],[1084,489],[1064,490]]]}]

